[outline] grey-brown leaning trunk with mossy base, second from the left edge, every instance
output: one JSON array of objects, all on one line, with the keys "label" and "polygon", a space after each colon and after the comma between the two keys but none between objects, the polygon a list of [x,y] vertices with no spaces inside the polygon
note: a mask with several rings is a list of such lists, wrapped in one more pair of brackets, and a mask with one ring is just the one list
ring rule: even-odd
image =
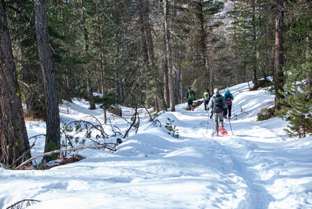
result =
[{"label": "grey-brown leaning trunk with mossy base, second from the left edge", "polygon": [[[54,66],[48,40],[47,6],[45,0],[35,0],[36,38],[40,59],[43,88],[45,91],[45,109],[47,114],[47,136],[45,152],[61,148],[59,101],[54,78]],[[57,155],[45,160],[55,159]]]}]

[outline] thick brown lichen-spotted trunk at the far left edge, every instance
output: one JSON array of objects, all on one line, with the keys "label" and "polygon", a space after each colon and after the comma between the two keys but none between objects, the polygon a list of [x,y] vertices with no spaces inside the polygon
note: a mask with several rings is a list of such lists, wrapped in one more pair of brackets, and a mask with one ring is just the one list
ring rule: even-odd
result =
[{"label": "thick brown lichen-spotted trunk at the far left edge", "polygon": [[[29,149],[4,0],[0,0],[0,141],[8,167]],[[31,154],[26,154],[26,159]],[[22,160],[17,164],[22,163]]]}]

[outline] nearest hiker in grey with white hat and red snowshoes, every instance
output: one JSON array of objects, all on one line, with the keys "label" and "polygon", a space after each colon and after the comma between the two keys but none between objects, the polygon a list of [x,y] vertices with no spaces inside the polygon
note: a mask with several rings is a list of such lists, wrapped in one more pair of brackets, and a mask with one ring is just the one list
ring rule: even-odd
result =
[{"label": "nearest hiker in grey with white hat and red snowshoes", "polygon": [[224,127],[223,114],[224,110],[228,108],[228,104],[224,97],[219,94],[218,88],[214,88],[214,94],[209,101],[208,107],[212,108],[212,113],[214,116],[214,136],[218,136],[219,132],[219,123],[221,127]]}]

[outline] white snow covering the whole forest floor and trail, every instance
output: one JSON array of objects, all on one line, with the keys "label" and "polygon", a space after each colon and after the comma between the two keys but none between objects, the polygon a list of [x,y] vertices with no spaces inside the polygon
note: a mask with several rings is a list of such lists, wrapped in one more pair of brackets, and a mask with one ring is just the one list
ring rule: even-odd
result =
[{"label": "white snow covering the whole forest floor and trail", "polygon": [[[283,131],[288,123],[280,118],[256,121],[274,95],[247,87],[230,88],[237,120],[231,126],[225,121],[226,137],[212,137],[213,121],[203,104],[195,111],[179,104],[176,112],[157,117],[163,125],[167,117],[173,120],[178,138],[150,125],[140,109],[138,133],[119,137],[123,143],[116,153],[79,150],[84,160],[45,171],[0,168],[0,208],[22,199],[40,201],[29,208],[312,208],[312,137],[288,138]],[[130,121],[133,109],[122,109]],[[89,110],[85,100],[68,107],[64,102],[60,110],[61,123],[91,115],[104,124],[102,109]],[[129,127],[118,116],[109,114],[109,120],[123,133]],[[45,134],[44,122],[26,127],[29,137]],[[107,133],[111,128],[104,126]],[[45,138],[38,137],[31,154],[44,146]]]}]

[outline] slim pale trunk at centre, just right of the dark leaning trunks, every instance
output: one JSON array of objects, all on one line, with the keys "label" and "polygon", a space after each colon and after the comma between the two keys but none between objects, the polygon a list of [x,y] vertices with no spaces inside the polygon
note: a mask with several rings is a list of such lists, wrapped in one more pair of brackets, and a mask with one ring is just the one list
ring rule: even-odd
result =
[{"label": "slim pale trunk at centre, just right of the dark leaning trunks", "polygon": [[172,56],[171,56],[171,44],[170,44],[170,33],[169,33],[169,8],[168,0],[164,0],[164,36],[166,41],[166,63],[168,68],[168,86],[169,86],[169,99],[171,111],[176,111],[176,100],[174,96],[173,86],[173,72],[172,72]]}]

